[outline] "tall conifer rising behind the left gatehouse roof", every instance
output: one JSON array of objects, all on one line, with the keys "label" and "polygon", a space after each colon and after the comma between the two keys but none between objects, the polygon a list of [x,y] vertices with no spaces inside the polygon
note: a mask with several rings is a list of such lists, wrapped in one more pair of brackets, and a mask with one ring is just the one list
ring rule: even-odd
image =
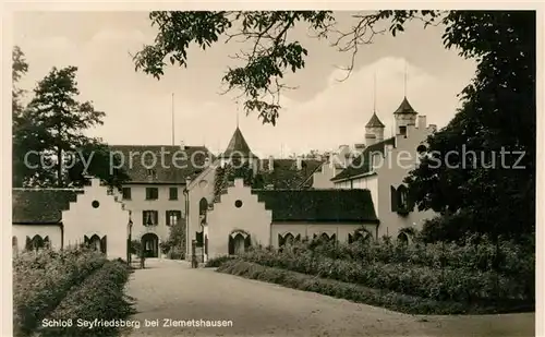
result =
[{"label": "tall conifer rising behind the left gatehouse roof", "polygon": [[[14,185],[82,185],[86,174],[114,185],[128,177],[110,172],[108,148],[83,131],[102,124],[104,112],[76,100],[77,68],[51,72],[38,82],[14,132]],[[89,165],[84,171],[85,164]],[[86,174],[84,174],[86,173]]]}]

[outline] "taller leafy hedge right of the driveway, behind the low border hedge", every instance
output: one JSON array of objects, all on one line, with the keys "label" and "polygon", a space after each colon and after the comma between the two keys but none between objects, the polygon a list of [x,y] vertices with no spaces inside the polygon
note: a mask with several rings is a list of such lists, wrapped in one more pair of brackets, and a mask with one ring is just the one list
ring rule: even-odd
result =
[{"label": "taller leafy hedge right of the driveway, behind the low border hedge", "polygon": [[408,263],[361,263],[292,249],[284,249],[282,252],[257,249],[243,254],[241,258],[263,266],[439,301],[530,300],[520,279],[471,268],[432,268]]}]

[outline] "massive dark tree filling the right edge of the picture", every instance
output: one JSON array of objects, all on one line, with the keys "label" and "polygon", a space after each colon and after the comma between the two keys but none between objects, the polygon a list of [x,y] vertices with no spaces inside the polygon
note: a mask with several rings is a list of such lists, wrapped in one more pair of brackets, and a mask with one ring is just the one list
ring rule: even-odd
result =
[{"label": "massive dark tree filling the right edge of the picture", "polygon": [[[467,231],[531,233],[535,12],[461,12],[455,17],[460,25],[449,29],[450,43],[462,56],[480,60],[477,71],[462,92],[462,108],[428,137],[426,154],[407,182],[420,209],[446,215],[428,224],[436,230],[426,231],[435,239],[456,240]],[[437,165],[446,163],[449,152],[460,155],[450,156],[449,165]]]}]

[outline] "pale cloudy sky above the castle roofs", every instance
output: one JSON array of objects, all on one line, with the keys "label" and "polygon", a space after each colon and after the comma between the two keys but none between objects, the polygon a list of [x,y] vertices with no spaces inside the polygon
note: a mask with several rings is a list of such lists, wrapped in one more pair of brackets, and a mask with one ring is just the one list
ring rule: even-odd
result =
[{"label": "pale cloudy sky above the castle roofs", "polygon": [[[341,28],[351,26],[351,15],[336,12]],[[168,67],[158,81],[136,72],[131,58],[156,36],[146,12],[19,12],[13,23],[14,44],[29,64],[20,84],[28,91],[27,99],[52,67],[77,67],[80,99],[106,112],[104,125],[86,133],[109,144],[170,145],[173,111],[177,144],[220,152],[240,115],[240,129],[258,156],[331,151],[364,143],[374,108],[386,124],[385,135],[390,135],[392,112],[405,93],[428,123],[446,125],[460,107],[458,94],[475,72],[473,60],[445,49],[443,27],[423,29],[414,22],[396,37],[379,35],[362,46],[350,77],[339,81],[346,76],[340,68],[351,56],[296,27],[290,36],[307,48],[308,57],[303,70],[286,77],[296,88],[282,93],[272,127],[256,115],[245,116],[242,99],[221,94],[221,77],[232,64],[229,56],[244,48],[242,44],[191,48],[187,68]]]}]

